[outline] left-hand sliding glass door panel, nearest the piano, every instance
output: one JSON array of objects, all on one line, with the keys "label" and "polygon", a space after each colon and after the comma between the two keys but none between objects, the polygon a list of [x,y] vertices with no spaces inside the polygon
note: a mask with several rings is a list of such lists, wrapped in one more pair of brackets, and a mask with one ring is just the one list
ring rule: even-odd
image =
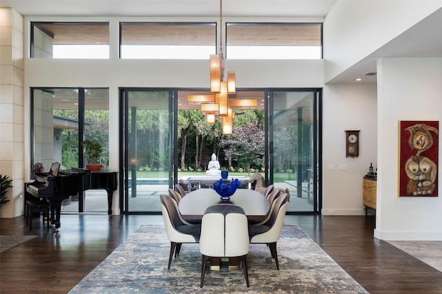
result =
[{"label": "left-hand sliding glass door panel, nearest the piano", "polygon": [[173,185],[173,92],[122,89],[122,213],[155,213]]}]

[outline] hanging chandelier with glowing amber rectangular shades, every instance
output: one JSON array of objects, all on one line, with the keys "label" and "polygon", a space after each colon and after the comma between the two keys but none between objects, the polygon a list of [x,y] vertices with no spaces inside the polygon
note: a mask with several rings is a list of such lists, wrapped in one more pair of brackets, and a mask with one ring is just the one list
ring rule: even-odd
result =
[{"label": "hanging chandelier with glowing amber rectangular shades", "polygon": [[222,0],[220,0],[220,50],[218,54],[211,54],[210,65],[210,92],[211,95],[189,95],[188,104],[197,104],[206,116],[207,123],[215,123],[215,116],[222,120],[222,134],[233,132],[232,121],[235,117],[233,109],[249,109],[256,107],[256,99],[229,99],[229,95],[236,94],[236,74],[227,72],[227,81],[224,81],[224,55],[222,46]]}]

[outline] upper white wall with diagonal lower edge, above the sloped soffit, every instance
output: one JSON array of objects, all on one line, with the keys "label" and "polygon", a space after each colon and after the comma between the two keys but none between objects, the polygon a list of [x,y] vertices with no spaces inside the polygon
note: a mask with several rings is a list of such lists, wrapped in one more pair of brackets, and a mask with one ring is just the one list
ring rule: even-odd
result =
[{"label": "upper white wall with diagonal lower edge, above the sloped soffit", "polygon": [[323,25],[325,83],[441,7],[440,0],[337,1]]}]

